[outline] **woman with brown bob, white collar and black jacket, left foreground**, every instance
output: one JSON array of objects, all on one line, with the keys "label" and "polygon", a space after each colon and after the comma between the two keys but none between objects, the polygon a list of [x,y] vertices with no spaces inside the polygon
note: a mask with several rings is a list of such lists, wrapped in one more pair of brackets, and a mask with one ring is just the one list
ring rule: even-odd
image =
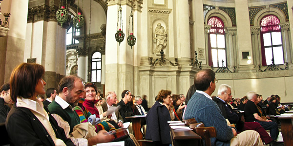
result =
[{"label": "woman with brown bob, white collar and black jacket, left foreground", "polygon": [[10,94],[15,102],[6,119],[11,146],[75,146],[66,138],[38,94],[44,94],[42,65],[21,63],[11,73]]}]

